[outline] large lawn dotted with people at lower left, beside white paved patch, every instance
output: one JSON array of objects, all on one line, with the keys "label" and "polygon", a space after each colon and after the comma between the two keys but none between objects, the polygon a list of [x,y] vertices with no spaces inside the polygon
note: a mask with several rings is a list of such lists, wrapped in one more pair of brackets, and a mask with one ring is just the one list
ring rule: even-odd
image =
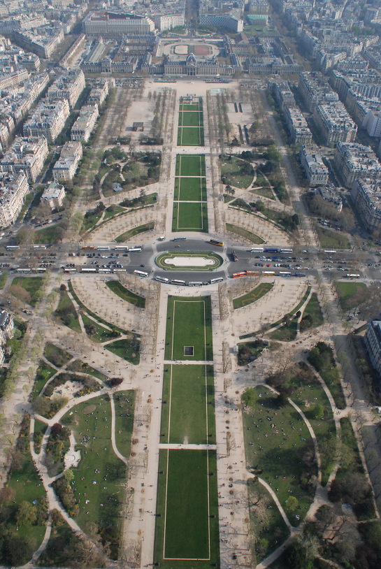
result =
[{"label": "large lawn dotted with people at lower left, beside white paved patch", "polygon": [[[83,410],[89,405],[96,405],[96,409],[84,415]],[[76,405],[72,415],[69,413],[62,417],[62,424],[73,431],[81,453],[78,468],[72,468],[73,492],[79,505],[76,522],[84,531],[89,522],[98,524],[101,528],[111,526],[119,531],[124,494],[121,484],[125,481],[126,467],[113,452],[110,399],[107,395],[94,397]],[[80,444],[84,435],[89,436],[89,441]],[[89,500],[89,503],[86,504],[85,500]]]}]

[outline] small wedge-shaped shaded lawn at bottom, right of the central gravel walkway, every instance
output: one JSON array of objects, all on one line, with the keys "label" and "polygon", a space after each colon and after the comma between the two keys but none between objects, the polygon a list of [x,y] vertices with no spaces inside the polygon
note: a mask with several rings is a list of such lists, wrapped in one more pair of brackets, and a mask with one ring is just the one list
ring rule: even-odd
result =
[{"label": "small wedge-shaped shaded lawn at bottom, right of the central gravel walkway", "polygon": [[[250,530],[255,535],[257,563],[266,559],[289,537],[289,526],[275,504],[271,494],[259,482],[248,481]],[[266,529],[265,529],[266,528]],[[275,539],[276,538],[276,539]]]}]

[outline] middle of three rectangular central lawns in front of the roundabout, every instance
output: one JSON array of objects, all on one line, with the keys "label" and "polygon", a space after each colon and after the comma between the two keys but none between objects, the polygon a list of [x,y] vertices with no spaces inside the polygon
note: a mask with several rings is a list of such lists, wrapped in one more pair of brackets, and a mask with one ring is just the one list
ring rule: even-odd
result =
[{"label": "middle of three rectangular central lawns in front of the roundabout", "polygon": [[213,366],[167,367],[163,387],[166,403],[161,406],[161,434],[165,436],[160,442],[182,444],[187,440],[189,445],[215,445]]}]

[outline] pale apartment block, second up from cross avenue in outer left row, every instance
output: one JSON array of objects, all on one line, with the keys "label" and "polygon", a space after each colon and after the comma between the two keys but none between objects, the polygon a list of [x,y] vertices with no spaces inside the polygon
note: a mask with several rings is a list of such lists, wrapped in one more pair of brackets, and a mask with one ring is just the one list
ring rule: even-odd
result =
[{"label": "pale apartment block, second up from cross avenue in outer left row", "polygon": [[46,138],[20,138],[17,136],[0,160],[0,171],[15,175],[23,171],[29,183],[34,184],[48,157]]}]

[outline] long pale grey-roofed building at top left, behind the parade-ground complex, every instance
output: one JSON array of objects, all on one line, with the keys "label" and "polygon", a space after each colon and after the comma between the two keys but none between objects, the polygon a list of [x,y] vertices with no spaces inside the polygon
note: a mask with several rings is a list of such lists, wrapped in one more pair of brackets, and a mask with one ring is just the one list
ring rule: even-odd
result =
[{"label": "long pale grey-roofed building at top left, behind the parade-ground complex", "polygon": [[153,34],[154,22],[148,16],[113,12],[90,12],[82,22],[87,36],[105,34]]}]

